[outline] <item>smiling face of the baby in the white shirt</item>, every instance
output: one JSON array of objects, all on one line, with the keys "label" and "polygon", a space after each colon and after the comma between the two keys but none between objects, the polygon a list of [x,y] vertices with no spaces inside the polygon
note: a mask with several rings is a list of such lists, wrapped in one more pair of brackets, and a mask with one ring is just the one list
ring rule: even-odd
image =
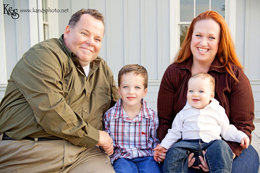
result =
[{"label": "smiling face of the baby in the white shirt", "polygon": [[202,79],[198,76],[189,80],[187,101],[193,108],[203,109],[213,98],[214,92],[209,84],[209,79]]}]

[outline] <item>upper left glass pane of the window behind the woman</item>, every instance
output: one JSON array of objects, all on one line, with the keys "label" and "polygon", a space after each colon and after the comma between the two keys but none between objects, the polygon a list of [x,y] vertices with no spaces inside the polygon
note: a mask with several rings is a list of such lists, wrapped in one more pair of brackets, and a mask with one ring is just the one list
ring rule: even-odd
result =
[{"label": "upper left glass pane of the window behind the woman", "polygon": [[191,22],[194,18],[194,0],[180,1],[180,21]]}]

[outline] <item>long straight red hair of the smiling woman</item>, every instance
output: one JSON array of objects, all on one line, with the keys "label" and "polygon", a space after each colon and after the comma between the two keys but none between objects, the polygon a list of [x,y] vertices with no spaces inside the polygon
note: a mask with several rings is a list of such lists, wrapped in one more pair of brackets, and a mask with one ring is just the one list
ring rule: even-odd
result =
[{"label": "long straight red hair of the smiling woman", "polygon": [[231,69],[231,64],[235,64],[237,67],[243,69],[241,63],[239,62],[239,59],[237,57],[237,54],[235,52],[235,46],[229,31],[229,27],[224,20],[224,18],[214,11],[206,11],[198,15],[196,18],[194,18],[190,24],[189,29],[187,30],[185,39],[183,43],[181,44],[181,47],[179,48],[174,62],[173,63],[181,63],[188,58],[192,57],[192,52],[190,49],[190,43],[192,40],[192,33],[194,30],[194,25],[196,22],[200,20],[209,20],[212,19],[215,22],[217,22],[221,29],[221,37],[218,47],[218,52],[216,54],[216,57],[219,59],[219,61],[223,64],[222,66],[217,66],[218,68],[225,67],[226,71],[236,80],[236,76]]}]

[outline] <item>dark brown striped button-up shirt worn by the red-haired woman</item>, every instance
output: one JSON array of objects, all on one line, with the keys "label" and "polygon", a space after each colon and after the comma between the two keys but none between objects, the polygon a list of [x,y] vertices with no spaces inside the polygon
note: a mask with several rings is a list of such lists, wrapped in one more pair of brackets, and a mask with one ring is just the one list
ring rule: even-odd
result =
[{"label": "dark brown striped button-up shirt worn by the red-haired woman", "polygon": [[[192,58],[182,62],[173,63],[165,71],[161,80],[158,93],[157,109],[159,117],[159,127],[157,136],[162,140],[167,130],[171,128],[173,119],[180,112],[187,101],[188,80],[191,77]],[[220,61],[215,58],[212,66],[221,66]],[[226,72],[224,67],[210,67],[208,74],[215,78],[215,99],[224,107],[229,123],[238,130],[243,131],[250,138],[251,132],[255,129],[254,120],[254,99],[250,82],[243,70],[232,65],[235,76],[239,80],[236,82],[232,76]],[[226,141],[233,153],[237,156],[243,148],[237,142]]]}]

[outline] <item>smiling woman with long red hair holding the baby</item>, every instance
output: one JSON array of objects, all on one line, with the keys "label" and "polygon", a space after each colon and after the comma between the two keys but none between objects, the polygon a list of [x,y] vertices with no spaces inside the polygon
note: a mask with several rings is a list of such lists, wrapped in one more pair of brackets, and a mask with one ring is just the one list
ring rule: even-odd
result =
[{"label": "smiling woman with long red hair holding the baby", "polygon": [[[230,124],[251,140],[251,132],[255,129],[252,89],[237,58],[227,24],[220,14],[213,11],[204,12],[192,20],[174,62],[161,80],[157,101],[159,140],[164,138],[176,114],[185,106],[187,82],[198,72],[215,78],[214,98],[224,107]],[[257,172],[259,157],[251,145],[243,150],[239,143],[226,142],[234,154],[232,173]],[[191,158],[192,155],[189,156],[189,167],[194,163]],[[200,167],[189,168],[189,172],[208,171],[207,163],[204,160],[201,163]]]}]

